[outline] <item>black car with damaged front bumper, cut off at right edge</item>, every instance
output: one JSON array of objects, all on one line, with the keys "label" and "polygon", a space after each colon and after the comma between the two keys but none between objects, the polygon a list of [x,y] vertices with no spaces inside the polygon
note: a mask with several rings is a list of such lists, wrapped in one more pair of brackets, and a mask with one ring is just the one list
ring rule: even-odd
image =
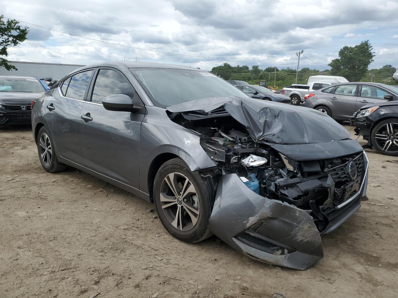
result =
[{"label": "black car with damaged front bumper, cut off at right edge", "polygon": [[368,143],[364,148],[375,148],[384,155],[398,156],[398,102],[368,104],[350,119],[356,135]]}]

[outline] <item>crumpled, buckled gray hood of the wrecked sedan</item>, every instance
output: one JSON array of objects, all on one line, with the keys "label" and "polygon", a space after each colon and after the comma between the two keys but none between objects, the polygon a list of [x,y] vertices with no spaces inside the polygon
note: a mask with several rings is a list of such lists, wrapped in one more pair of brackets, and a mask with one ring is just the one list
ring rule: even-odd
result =
[{"label": "crumpled, buckled gray hood of the wrecked sedan", "polygon": [[329,116],[312,108],[241,97],[209,97],[169,106],[170,112],[210,112],[221,106],[255,141],[278,144],[327,143],[350,137]]}]

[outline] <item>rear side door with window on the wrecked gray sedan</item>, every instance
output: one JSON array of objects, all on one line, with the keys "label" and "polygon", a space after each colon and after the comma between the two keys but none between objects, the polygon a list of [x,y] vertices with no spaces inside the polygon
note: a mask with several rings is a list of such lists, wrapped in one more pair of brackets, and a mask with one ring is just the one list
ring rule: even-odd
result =
[{"label": "rear side door with window on the wrecked gray sedan", "polygon": [[87,96],[94,70],[67,77],[47,97],[46,118],[59,155],[74,163],[81,162],[79,130],[80,111]]}]

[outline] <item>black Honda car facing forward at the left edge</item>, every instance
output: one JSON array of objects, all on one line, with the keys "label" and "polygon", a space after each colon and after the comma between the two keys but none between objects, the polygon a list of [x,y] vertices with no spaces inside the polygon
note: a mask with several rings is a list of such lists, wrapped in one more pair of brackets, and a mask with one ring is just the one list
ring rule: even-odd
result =
[{"label": "black Honda car facing forward at the left edge", "polygon": [[31,103],[45,91],[44,85],[34,77],[1,75],[0,125],[30,123]]}]

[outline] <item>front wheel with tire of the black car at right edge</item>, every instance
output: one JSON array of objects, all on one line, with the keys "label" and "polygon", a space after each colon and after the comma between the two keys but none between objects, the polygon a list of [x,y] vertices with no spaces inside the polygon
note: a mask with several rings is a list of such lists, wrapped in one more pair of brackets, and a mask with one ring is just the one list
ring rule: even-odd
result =
[{"label": "front wheel with tire of the black car at right edge", "polygon": [[371,132],[371,142],[381,154],[398,156],[398,118],[379,122]]}]

